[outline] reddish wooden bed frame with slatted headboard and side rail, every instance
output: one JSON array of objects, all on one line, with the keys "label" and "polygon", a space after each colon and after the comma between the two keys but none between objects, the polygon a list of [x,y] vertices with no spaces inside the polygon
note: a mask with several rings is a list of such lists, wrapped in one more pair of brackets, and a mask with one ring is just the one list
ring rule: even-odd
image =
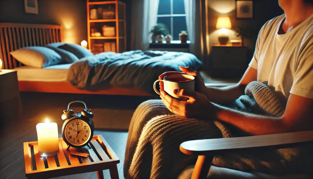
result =
[{"label": "reddish wooden bed frame with slatted headboard and side rail", "polygon": [[[3,68],[13,69],[23,66],[10,55],[11,51],[28,46],[44,46],[53,42],[62,42],[60,25],[0,23],[0,59],[3,61]],[[151,96],[138,87],[103,86],[99,90],[90,91],[75,88],[68,82],[40,81],[18,81],[18,86],[20,91],[28,92]]]}]

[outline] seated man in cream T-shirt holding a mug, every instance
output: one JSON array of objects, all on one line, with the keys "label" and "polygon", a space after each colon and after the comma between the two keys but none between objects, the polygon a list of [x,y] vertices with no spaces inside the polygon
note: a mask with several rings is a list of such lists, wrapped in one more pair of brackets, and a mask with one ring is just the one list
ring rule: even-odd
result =
[{"label": "seated man in cream T-shirt holding a mug", "polygon": [[[313,130],[313,1],[279,0],[285,11],[264,24],[259,31],[254,56],[242,79],[234,86],[213,88],[204,85],[197,71],[180,66],[182,72],[196,77],[195,92],[175,89],[179,101],[169,96],[160,82],[163,103],[175,114],[185,117],[217,118],[244,135],[277,134]],[[244,93],[252,81],[263,82],[285,106],[282,117],[269,117],[223,107]]]}]

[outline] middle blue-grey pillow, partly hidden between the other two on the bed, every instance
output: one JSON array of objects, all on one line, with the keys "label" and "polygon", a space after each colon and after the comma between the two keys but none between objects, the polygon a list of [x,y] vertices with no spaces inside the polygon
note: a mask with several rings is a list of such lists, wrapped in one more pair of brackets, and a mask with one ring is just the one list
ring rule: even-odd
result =
[{"label": "middle blue-grey pillow, partly hidden between the other two on the bed", "polygon": [[62,43],[62,42],[56,42],[56,43],[47,44],[45,46],[54,50],[59,55],[61,55],[62,60],[65,63],[74,63],[75,61],[78,61],[79,59],[73,53],[59,48],[59,46],[64,45],[64,44],[65,43]]}]

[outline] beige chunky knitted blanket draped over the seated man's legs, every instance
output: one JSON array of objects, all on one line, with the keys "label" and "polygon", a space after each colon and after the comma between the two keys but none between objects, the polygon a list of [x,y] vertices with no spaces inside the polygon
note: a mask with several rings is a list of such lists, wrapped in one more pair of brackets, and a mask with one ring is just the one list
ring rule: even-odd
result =
[{"label": "beige chunky knitted blanket draped over the seated man's legs", "polygon": [[[281,116],[284,108],[270,89],[251,82],[234,108],[246,112]],[[185,155],[179,145],[187,140],[233,137],[217,120],[185,118],[171,113],[161,100],[149,100],[136,109],[129,128],[124,176],[132,179],[177,178],[197,156]],[[307,160],[305,160],[307,159]],[[213,165],[241,171],[312,174],[312,154],[308,148],[250,150],[215,156]],[[311,165],[310,165],[311,164]]]}]

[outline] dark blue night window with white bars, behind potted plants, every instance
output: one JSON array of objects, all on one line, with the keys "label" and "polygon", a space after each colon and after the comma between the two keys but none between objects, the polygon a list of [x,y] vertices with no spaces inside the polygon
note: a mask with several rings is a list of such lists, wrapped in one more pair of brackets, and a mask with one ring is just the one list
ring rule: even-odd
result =
[{"label": "dark blue night window with white bars, behind potted plants", "polygon": [[166,25],[172,40],[179,40],[179,33],[187,31],[184,0],[160,0],[157,23]]}]

